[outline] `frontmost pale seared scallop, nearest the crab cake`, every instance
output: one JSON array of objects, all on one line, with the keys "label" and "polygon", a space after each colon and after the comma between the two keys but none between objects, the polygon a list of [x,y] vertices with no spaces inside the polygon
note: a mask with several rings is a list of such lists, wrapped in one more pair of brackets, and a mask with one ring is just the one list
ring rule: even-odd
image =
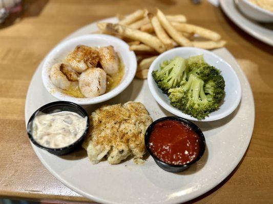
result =
[{"label": "frontmost pale seared scallop, nearest the crab cake", "polygon": [[106,92],[106,72],[101,68],[89,68],[79,77],[79,89],[87,97],[96,97]]}]

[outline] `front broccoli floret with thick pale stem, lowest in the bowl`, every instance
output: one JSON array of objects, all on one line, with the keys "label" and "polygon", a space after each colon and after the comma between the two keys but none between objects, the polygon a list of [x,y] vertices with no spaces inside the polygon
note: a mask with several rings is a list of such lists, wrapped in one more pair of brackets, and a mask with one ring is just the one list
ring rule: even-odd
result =
[{"label": "front broccoli floret with thick pale stem, lowest in the bowl", "polygon": [[171,105],[197,119],[204,119],[217,110],[224,96],[224,80],[221,75],[204,82],[197,74],[190,74],[188,81],[169,90]]}]

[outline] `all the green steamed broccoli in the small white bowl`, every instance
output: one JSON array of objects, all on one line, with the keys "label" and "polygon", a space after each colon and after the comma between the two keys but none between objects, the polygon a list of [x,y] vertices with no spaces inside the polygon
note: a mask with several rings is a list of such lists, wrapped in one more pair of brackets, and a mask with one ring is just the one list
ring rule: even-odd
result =
[{"label": "all the green steamed broccoli in the small white bowl", "polygon": [[[184,60],[186,67],[183,65],[183,69],[175,69],[175,65],[178,65],[175,60],[178,59],[163,62],[163,67],[160,71],[154,71],[153,77],[158,87],[169,94],[172,106],[185,114],[203,119],[218,109],[225,94],[225,81],[220,71],[208,65],[202,55]],[[172,73],[173,70],[179,71]]]}]

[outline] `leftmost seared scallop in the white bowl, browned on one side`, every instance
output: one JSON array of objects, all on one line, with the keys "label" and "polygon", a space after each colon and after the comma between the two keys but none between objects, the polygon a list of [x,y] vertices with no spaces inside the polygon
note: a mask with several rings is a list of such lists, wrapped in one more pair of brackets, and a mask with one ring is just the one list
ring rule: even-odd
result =
[{"label": "leftmost seared scallop in the white bowl, browned on one side", "polygon": [[68,89],[78,81],[79,74],[67,63],[54,64],[50,70],[51,82],[58,88]]}]

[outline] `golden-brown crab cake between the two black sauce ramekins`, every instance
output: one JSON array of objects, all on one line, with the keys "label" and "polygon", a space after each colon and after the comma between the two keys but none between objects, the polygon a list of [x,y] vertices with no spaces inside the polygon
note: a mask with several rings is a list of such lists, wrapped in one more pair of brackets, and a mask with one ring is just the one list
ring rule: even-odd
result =
[{"label": "golden-brown crab cake between the two black sauce ramekins", "polygon": [[93,164],[104,157],[110,164],[118,164],[130,155],[142,158],[146,152],[144,134],[152,122],[138,102],[102,106],[90,116],[90,131],[82,147]]}]

